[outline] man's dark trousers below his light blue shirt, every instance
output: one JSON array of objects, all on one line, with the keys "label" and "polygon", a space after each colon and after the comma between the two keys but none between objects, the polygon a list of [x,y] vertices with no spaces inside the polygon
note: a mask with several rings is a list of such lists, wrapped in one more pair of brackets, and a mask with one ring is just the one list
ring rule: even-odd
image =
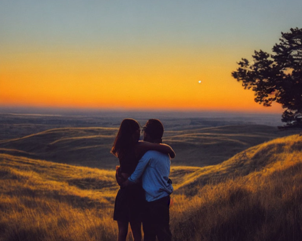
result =
[{"label": "man's dark trousers below his light blue shirt", "polygon": [[146,202],[146,213],[143,218],[144,241],[171,241],[169,214],[170,196],[153,202]]}]

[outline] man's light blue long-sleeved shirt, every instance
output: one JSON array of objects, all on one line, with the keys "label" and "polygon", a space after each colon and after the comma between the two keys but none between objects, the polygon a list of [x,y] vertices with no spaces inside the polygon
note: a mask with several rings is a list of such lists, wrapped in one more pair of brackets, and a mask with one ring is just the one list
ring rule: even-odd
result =
[{"label": "man's light blue long-sleeved shirt", "polygon": [[147,202],[163,198],[173,192],[172,182],[169,180],[170,164],[168,154],[147,151],[128,180],[138,182],[142,177]]}]

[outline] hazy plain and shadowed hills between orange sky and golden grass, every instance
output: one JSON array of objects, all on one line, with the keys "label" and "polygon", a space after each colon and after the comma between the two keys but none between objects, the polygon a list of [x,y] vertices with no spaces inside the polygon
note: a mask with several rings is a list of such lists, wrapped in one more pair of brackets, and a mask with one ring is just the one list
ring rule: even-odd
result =
[{"label": "hazy plain and shadowed hills between orange sky and golden grass", "polygon": [[[172,165],[207,166],[262,142],[299,130],[278,130],[276,114],[219,112],[114,112],[4,109],[0,114],[0,153],[73,165],[114,169],[110,154],[120,122],[141,126],[159,118],[163,142],[172,146]],[[142,136],[141,136],[142,138]]]}]

